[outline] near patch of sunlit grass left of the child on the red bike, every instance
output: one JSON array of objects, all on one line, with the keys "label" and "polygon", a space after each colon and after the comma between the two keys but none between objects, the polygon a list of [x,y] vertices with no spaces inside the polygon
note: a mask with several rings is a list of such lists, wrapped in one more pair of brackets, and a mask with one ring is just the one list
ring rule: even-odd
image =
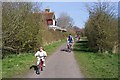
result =
[{"label": "near patch of sunlit grass left of the child on the red bike", "polygon": [[21,55],[11,55],[2,60],[2,77],[12,77],[29,70],[29,67],[35,62],[33,54],[22,53]]}]

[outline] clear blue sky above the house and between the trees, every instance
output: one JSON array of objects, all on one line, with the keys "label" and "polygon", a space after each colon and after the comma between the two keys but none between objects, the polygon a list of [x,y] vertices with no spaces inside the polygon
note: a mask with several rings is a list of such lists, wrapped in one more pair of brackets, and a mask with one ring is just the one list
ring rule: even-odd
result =
[{"label": "clear blue sky above the house and between the trees", "polygon": [[56,18],[62,12],[67,13],[73,18],[74,25],[79,28],[85,27],[85,22],[89,18],[86,5],[92,5],[93,2],[42,2],[42,10],[50,8],[55,13]]}]

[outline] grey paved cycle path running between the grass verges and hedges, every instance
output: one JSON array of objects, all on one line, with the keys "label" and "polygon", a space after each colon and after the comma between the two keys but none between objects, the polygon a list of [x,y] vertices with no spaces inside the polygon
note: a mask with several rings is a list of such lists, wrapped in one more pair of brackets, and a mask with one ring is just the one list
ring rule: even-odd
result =
[{"label": "grey paved cycle path running between the grass verges and hedges", "polygon": [[44,71],[37,75],[33,69],[17,78],[84,78],[76,63],[73,52],[61,51],[66,44],[61,45],[56,52],[46,60]]}]

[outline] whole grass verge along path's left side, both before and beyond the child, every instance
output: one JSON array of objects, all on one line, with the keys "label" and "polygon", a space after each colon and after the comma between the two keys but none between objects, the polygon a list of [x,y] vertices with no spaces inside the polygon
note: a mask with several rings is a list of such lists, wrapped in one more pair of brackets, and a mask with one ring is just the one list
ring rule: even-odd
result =
[{"label": "whole grass verge along path's left side, both before and beyond the child", "polygon": [[[47,54],[50,55],[62,43],[64,43],[64,41],[55,42],[45,46],[44,48]],[[20,55],[9,55],[7,58],[2,60],[2,77],[7,78],[25,73],[33,64],[36,64],[36,58],[34,57],[34,54],[22,53]]]}]

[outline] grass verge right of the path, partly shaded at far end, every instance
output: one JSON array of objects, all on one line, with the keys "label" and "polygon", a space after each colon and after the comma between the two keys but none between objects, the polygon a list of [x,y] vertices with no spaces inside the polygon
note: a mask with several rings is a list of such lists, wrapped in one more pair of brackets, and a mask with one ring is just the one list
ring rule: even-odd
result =
[{"label": "grass verge right of the path, partly shaded at far end", "polygon": [[93,53],[86,41],[74,45],[75,58],[87,78],[118,78],[118,54]]}]

